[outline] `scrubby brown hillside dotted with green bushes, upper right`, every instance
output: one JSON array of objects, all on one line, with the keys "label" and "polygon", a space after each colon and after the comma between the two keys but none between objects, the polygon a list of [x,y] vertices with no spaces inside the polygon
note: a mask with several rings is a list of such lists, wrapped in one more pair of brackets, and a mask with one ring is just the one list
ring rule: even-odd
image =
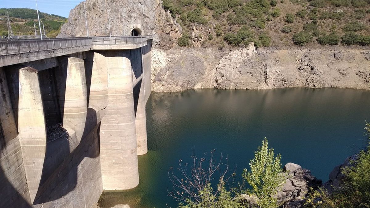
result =
[{"label": "scrubby brown hillside dotted with green bushes, upper right", "polygon": [[192,46],[194,27],[204,47],[370,45],[370,0],[164,0],[163,7],[187,34],[180,46]]}]

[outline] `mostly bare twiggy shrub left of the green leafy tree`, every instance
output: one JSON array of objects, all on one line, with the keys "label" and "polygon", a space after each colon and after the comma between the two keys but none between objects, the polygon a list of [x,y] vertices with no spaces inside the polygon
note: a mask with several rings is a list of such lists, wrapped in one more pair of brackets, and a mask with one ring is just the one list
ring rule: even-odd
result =
[{"label": "mostly bare twiggy shrub left of the green leafy tree", "polygon": [[[219,161],[213,158],[214,150],[211,151],[208,164],[206,154],[202,158],[196,158],[193,152],[190,164],[182,164],[179,168],[170,168],[168,176],[173,184],[172,191],[168,195],[179,201],[180,208],[238,208],[241,204],[233,200],[231,191],[225,187],[227,181],[235,175],[229,173],[229,164],[223,164],[222,155]],[[189,167],[190,166],[190,167]],[[174,171],[175,170],[175,171]],[[176,171],[177,170],[177,171]],[[212,186],[216,175],[218,185]]]}]

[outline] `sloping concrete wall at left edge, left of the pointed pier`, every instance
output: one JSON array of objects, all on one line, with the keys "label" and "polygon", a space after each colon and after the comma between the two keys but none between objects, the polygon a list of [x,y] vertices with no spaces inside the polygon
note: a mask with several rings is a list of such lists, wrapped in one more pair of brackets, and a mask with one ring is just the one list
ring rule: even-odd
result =
[{"label": "sloping concrete wall at left edge, left of the pointed pier", "polygon": [[26,173],[7,78],[0,67],[0,207],[30,207]]}]

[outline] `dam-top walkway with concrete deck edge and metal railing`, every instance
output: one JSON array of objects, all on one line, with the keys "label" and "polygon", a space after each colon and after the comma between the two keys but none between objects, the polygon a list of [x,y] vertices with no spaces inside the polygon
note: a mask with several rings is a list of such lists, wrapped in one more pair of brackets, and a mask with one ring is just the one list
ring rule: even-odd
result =
[{"label": "dam-top walkway with concrete deck edge and metal railing", "polygon": [[0,40],[0,67],[90,50],[143,47],[152,36],[74,37]]}]

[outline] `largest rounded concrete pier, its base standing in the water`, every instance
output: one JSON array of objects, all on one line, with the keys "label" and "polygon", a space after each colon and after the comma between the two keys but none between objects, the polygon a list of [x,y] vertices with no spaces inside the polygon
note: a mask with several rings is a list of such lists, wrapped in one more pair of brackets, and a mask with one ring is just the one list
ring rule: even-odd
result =
[{"label": "largest rounded concrete pier, its base standing in the water", "polygon": [[130,189],[139,184],[132,68],[119,52],[105,57],[108,104],[100,127],[103,188]]}]

